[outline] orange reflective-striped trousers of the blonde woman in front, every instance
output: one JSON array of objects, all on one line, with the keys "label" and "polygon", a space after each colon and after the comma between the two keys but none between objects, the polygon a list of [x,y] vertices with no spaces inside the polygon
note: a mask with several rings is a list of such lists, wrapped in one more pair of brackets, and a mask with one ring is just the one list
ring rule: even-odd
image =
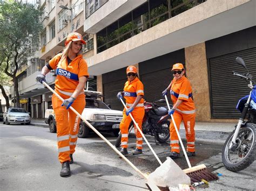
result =
[{"label": "orange reflective-striped trousers of the blonde woman in front", "polygon": [[[64,100],[70,96],[58,93]],[[57,140],[59,161],[70,161],[70,154],[75,152],[80,118],[70,108],[61,106],[62,101],[56,95],[52,95],[52,108],[55,112],[57,125]],[[79,114],[85,107],[85,95],[79,95],[71,105]]]}]

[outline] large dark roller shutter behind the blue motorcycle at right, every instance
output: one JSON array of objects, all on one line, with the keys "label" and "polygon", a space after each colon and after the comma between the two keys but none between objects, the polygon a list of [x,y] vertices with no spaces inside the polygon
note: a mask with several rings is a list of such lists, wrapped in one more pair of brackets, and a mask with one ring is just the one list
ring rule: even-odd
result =
[{"label": "large dark roller shutter behind the blue motorcycle at right", "polygon": [[232,71],[246,73],[235,62],[235,58],[244,59],[250,73],[256,80],[256,48],[217,56],[208,60],[210,72],[212,118],[238,118],[240,112],[235,109],[238,100],[250,93],[246,82]]}]

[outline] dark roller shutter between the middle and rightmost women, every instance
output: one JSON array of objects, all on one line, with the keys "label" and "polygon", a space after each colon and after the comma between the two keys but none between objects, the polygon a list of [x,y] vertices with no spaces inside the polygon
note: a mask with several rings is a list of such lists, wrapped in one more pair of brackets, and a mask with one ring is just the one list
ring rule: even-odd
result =
[{"label": "dark roller shutter between the middle and rightmost women", "polygon": [[[154,102],[163,99],[162,91],[165,90],[173,79],[170,68],[154,71],[152,73],[143,74],[140,80],[144,84],[144,98],[147,102]],[[171,102],[170,93],[167,95],[169,103]],[[159,105],[166,105],[161,103]]]}]

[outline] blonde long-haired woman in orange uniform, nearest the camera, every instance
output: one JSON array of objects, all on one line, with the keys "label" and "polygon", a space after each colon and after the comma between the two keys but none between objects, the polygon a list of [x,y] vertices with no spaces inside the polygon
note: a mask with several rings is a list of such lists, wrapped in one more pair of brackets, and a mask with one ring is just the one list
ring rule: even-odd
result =
[{"label": "blonde long-haired woman in orange uniform, nearest the camera", "polygon": [[52,95],[52,107],[57,123],[59,161],[62,164],[60,176],[68,176],[73,153],[77,143],[80,118],[71,110],[72,107],[82,114],[85,107],[84,87],[89,76],[87,63],[83,59],[82,45],[86,44],[81,34],[72,32],[68,35],[63,53],[57,54],[42,68],[36,79],[45,81],[50,70],[56,70],[55,91],[64,101]]}]

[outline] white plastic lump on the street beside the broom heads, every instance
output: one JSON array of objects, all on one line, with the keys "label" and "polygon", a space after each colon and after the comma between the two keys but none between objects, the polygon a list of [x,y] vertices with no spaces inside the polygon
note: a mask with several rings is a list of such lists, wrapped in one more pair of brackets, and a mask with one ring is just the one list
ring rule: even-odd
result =
[{"label": "white plastic lump on the street beside the broom heads", "polygon": [[179,187],[179,184],[190,185],[189,176],[170,157],[166,158],[167,160],[149,175],[148,181],[161,187]]}]

